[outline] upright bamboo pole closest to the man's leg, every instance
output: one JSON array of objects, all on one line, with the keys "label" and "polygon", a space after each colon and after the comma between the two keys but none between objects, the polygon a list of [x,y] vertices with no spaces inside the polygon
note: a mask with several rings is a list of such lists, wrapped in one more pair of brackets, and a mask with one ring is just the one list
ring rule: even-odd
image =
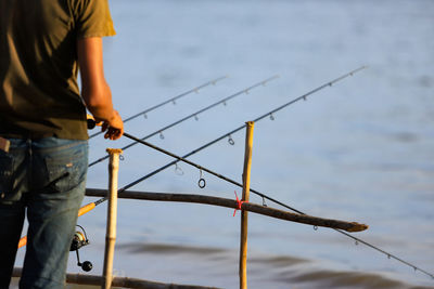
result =
[{"label": "upright bamboo pole closest to the man's leg", "polygon": [[116,242],[116,218],[117,218],[117,175],[119,172],[119,155],[122,149],[107,148],[110,155],[108,162],[108,207],[107,207],[107,227],[105,233],[105,252],[103,268],[103,289],[112,287],[113,279],[113,259]]}]

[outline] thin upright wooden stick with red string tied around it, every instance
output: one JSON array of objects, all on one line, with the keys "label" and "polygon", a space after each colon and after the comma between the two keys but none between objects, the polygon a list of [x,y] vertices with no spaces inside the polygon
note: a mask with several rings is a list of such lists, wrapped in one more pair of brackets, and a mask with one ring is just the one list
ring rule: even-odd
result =
[{"label": "thin upright wooden stick with red string tied around it", "polygon": [[[245,133],[244,170],[243,170],[243,197],[241,203],[248,202],[251,193],[251,167],[252,167],[252,146],[253,129],[255,123],[247,121]],[[241,207],[241,206],[240,206]],[[240,233],[240,289],[247,289],[247,225],[248,211],[241,211],[241,233]]]}]

